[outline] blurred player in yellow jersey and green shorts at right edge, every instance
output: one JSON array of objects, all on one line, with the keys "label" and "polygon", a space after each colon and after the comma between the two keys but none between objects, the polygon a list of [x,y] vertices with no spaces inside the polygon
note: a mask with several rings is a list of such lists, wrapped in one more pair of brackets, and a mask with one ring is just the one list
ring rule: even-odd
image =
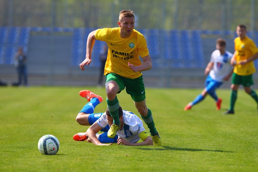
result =
[{"label": "blurred player in yellow jersey and green shorts at right edge", "polygon": [[223,114],[234,114],[237,89],[240,84],[243,85],[245,92],[250,94],[258,104],[258,96],[251,88],[251,85],[253,85],[253,73],[256,71],[253,60],[258,58],[258,49],[253,40],[246,36],[246,32],[245,25],[238,25],[236,27],[238,37],[234,40],[235,52],[230,60],[231,65],[234,65],[232,84],[230,87],[230,107]]}]

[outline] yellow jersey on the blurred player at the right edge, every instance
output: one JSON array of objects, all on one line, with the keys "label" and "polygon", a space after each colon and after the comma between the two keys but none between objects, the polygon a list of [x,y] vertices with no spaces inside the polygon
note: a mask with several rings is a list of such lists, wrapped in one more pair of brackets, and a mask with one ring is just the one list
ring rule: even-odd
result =
[{"label": "yellow jersey on the blurred player at the right edge", "polygon": [[[236,63],[242,60],[246,60],[258,52],[258,49],[253,40],[247,36],[243,40],[241,40],[240,37],[235,38],[234,43],[236,51]],[[255,71],[256,69],[254,67],[253,61],[250,61],[245,65],[235,65],[234,67],[234,73],[241,76],[253,74]]]}]

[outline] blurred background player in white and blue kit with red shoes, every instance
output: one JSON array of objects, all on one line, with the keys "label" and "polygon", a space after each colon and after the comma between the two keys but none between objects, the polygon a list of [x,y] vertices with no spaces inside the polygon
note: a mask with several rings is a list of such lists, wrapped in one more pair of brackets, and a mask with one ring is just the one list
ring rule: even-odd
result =
[{"label": "blurred background player in white and blue kit with red shoes", "polygon": [[233,54],[226,51],[226,41],[222,38],[216,41],[216,50],[211,54],[210,62],[205,68],[204,74],[208,75],[205,81],[205,88],[192,102],[184,108],[190,110],[193,105],[202,101],[209,94],[215,101],[217,110],[221,108],[222,99],[218,98],[216,89],[219,88],[223,81],[228,81],[233,73],[233,67],[230,65],[230,59]]}]

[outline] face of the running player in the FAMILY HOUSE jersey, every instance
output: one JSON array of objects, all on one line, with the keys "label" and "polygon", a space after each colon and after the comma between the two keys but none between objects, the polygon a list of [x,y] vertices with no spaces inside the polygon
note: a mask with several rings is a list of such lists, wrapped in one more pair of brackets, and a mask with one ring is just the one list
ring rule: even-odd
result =
[{"label": "face of the running player in the FAMILY HOUSE jersey", "polygon": [[122,21],[117,22],[120,29],[121,38],[129,38],[132,31],[134,30],[134,17],[124,17]]}]

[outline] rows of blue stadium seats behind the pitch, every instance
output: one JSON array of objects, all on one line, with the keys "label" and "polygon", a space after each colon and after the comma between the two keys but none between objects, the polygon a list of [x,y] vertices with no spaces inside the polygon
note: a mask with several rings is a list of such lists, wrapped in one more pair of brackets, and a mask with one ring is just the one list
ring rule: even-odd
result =
[{"label": "rows of blue stadium seats behind the pitch", "polygon": [[[88,34],[96,28],[50,28],[50,27],[0,27],[0,64],[13,64],[13,58],[19,46],[28,51],[31,32],[71,32],[71,66],[78,66],[85,58]],[[210,30],[158,30],[140,29],[146,38],[153,67],[204,68],[206,66],[202,35],[233,35],[233,31]],[[248,32],[258,43],[258,32]],[[96,41],[92,57],[98,58],[103,42]],[[258,66],[257,61],[255,61]],[[92,61],[98,67],[100,61]]]}]

